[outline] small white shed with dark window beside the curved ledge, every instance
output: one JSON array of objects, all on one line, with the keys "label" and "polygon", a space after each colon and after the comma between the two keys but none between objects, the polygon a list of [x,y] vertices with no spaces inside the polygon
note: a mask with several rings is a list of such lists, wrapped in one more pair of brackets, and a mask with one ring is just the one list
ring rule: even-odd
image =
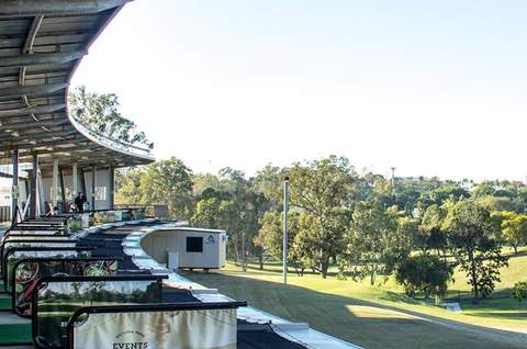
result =
[{"label": "small white shed with dark window beside the curved ledge", "polygon": [[170,269],[220,269],[225,267],[227,233],[191,227],[166,228],[146,235],[141,246]]}]

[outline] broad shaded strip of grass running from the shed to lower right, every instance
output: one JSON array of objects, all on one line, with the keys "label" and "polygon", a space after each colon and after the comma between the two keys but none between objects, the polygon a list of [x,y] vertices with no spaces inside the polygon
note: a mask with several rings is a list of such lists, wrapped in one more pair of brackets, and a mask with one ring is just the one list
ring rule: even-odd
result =
[{"label": "broad shaded strip of grass running from the shed to lower right", "polygon": [[[467,325],[373,302],[220,272],[184,272],[189,279],[250,305],[365,348],[525,348],[525,335]],[[402,306],[407,299],[389,292]]]}]

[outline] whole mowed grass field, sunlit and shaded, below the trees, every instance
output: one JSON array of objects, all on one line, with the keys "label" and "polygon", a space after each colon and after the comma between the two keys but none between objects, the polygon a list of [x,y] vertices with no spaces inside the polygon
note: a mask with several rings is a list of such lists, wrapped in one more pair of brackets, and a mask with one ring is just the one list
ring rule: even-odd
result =
[{"label": "whole mowed grass field, sunlit and shaded, below the trees", "polygon": [[[527,304],[508,297],[509,286],[526,280],[527,257],[522,250],[503,270],[496,297],[472,305],[470,288],[457,272],[450,296],[461,297],[463,313],[455,314],[406,297],[391,279],[368,282],[324,280],[316,274],[302,278],[289,273],[281,283],[278,263],[247,272],[228,264],[217,272],[184,272],[184,275],[237,300],[365,348],[527,348]],[[517,278],[517,279],[516,279]]]}]

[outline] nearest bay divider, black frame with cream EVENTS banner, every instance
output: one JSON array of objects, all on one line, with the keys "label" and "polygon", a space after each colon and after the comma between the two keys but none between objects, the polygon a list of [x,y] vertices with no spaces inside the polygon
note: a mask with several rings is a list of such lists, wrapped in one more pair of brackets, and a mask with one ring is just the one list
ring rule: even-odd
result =
[{"label": "nearest bay divider, black frame with cream EVENTS banner", "polygon": [[240,306],[247,302],[81,307],[67,324],[67,348],[235,349]]}]

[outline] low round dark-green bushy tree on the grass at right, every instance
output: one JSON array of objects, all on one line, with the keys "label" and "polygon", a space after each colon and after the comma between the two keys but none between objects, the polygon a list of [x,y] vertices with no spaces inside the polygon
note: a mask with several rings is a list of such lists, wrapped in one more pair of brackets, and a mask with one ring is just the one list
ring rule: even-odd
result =
[{"label": "low round dark-green bushy tree on the grass at right", "polygon": [[399,261],[395,280],[403,285],[407,296],[423,293],[425,297],[442,297],[452,272],[452,267],[439,257],[418,255]]}]

